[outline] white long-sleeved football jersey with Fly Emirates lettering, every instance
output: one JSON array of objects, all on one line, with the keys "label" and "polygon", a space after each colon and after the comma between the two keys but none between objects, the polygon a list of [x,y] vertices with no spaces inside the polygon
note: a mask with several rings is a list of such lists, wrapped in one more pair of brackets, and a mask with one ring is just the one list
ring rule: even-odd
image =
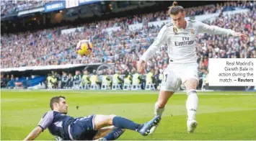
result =
[{"label": "white long-sleeved football jersey with Fly Emirates lettering", "polygon": [[187,27],[178,29],[174,24],[165,24],[154,40],[153,44],[142,55],[145,62],[151,58],[161,45],[167,43],[168,56],[172,63],[196,63],[195,53],[196,35],[198,33],[209,33],[213,35],[232,35],[233,30],[210,26],[199,21],[186,20]]}]

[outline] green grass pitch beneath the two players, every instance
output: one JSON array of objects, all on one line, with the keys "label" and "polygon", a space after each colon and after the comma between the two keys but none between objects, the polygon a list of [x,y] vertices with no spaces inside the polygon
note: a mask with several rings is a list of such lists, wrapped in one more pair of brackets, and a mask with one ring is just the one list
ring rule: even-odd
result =
[{"label": "green grass pitch beneath the two players", "polygon": [[[23,140],[50,110],[52,96],[66,96],[69,115],[116,114],[144,123],[154,116],[157,91],[1,91],[1,140]],[[185,93],[169,99],[154,135],[126,131],[119,140],[256,140],[255,92],[198,92],[198,128],[187,134]],[[76,109],[79,106],[79,109]],[[37,140],[55,140],[45,130]]]}]

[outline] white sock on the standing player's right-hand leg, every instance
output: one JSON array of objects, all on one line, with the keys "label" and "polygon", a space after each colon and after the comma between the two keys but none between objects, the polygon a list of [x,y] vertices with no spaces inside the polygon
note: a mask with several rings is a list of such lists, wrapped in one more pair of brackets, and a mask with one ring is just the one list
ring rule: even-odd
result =
[{"label": "white sock on the standing player's right-hand leg", "polygon": [[195,89],[187,91],[187,116],[188,120],[195,119],[196,109],[198,108],[198,94]]}]

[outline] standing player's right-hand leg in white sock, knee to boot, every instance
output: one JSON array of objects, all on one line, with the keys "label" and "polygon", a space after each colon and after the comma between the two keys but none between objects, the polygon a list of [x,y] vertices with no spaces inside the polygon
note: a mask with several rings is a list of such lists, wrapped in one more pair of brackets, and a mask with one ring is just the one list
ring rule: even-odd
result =
[{"label": "standing player's right-hand leg in white sock, knee to boot", "polygon": [[187,88],[187,132],[195,132],[196,127],[198,127],[198,122],[195,121],[196,109],[198,108],[198,94],[196,92],[196,87],[198,81],[194,78],[190,78],[185,82]]}]

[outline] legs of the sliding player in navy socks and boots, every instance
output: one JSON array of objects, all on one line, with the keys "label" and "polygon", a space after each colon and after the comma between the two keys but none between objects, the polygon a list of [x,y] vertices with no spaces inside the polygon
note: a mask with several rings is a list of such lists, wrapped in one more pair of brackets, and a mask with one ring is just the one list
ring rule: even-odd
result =
[{"label": "legs of the sliding player in navy socks and boots", "polygon": [[155,123],[159,120],[158,117],[154,117],[151,121],[146,122],[144,124],[137,124],[129,119],[125,119],[123,117],[118,117],[115,115],[100,115],[97,114],[94,117],[94,129],[99,130],[102,127],[107,127],[110,125],[114,125],[115,129],[101,138],[101,140],[116,140],[120,135],[123,134],[123,129],[131,129],[133,131],[139,132],[141,135],[148,135],[149,130],[155,125]]}]

